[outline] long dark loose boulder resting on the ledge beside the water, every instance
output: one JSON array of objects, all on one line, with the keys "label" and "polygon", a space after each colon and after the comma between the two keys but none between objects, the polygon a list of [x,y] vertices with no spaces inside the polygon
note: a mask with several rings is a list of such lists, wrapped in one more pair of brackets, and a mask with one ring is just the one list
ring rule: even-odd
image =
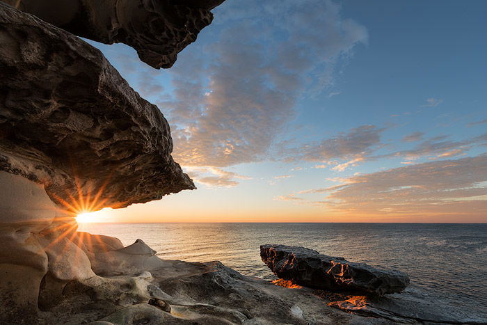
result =
[{"label": "long dark loose boulder resting on the ledge beside the water", "polygon": [[262,245],[260,257],[279,278],[317,289],[383,295],[401,292],[409,285],[408,276],[400,271],[380,270],[303,247]]}]

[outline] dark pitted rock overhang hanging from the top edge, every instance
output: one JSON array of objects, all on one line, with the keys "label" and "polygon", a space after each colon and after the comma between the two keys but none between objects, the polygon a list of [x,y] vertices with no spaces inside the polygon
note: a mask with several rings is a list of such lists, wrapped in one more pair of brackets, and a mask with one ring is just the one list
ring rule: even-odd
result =
[{"label": "dark pitted rock overhang hanging from the top edge", "polygon": [[170,68],[177,54],[213,20],[224,0],[2,0],[19,10],[105,44],[125,43],[154,68]]}]

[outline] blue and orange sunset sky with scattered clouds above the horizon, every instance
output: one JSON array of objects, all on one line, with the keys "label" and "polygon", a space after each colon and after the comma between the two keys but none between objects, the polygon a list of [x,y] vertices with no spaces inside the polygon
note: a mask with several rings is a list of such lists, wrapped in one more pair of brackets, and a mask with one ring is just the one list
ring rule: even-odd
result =
[{"label": "blue and orange sunset sky with scattered clouds above the horizon", "polygon": [[99,222],[487,222],[487,1],[227,0],[168,70],[102,45],[198,189]]}]

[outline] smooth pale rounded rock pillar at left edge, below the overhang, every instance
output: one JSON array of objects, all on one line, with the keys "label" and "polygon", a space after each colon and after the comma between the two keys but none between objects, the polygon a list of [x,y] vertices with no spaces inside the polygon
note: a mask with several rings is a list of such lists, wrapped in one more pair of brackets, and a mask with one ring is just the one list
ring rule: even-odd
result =
[{"label": "smooth pale rounded rock pillar at left edge, below the overhang", "polygon": [[56,216],[42,186],[0,171],[0,317],[35,317],[47,254],[38,234]]}]

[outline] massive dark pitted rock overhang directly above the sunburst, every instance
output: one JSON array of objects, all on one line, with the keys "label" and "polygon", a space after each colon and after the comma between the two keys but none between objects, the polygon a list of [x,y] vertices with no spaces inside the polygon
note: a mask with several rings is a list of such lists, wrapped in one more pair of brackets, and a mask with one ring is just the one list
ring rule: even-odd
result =
[{"label": "massive dark pitted rock overhang directly above the sunburst", "polygon": [[162,113],[99,50],[5,3],[0,43],[0,171],[44,184],[73,209],[194,189],[170,156]]}]

